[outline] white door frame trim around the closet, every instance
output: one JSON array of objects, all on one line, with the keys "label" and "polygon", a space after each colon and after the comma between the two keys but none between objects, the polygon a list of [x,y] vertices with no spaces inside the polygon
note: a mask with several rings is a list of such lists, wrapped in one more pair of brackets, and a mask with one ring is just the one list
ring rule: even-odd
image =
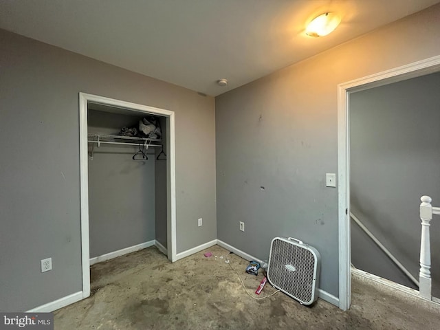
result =
[{"label": "white door frame trim around the closet", "polygon": [[81,202],[81,257],[83,267],[83,298],[90,296],[90,252],[89,252],[89,170],[87,148],[87,103],[93,102],[148,113],[162,115],[167,120],[166,195],[167,195],[167,254],[171,262],[176,261],[176,193],[175,193],[175,117],[174,111],[148,107],[113,98],[80,93],[80,202]]}]

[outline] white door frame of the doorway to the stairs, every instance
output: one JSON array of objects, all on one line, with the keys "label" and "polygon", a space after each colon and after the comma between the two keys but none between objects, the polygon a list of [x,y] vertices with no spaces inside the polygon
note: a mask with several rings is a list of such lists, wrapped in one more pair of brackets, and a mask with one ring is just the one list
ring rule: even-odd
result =
[{"label": "white door frame of the doorway to the stairs", "polygon": [[[438,72],[440,56],[427,58],[338,85],[338,239],[339,239],[339,307],[347,310],[351,299],[350,251],[350,135],[349,96],[354,91],[396,83]],[[417,201],[418,203],[418,201]]]}]

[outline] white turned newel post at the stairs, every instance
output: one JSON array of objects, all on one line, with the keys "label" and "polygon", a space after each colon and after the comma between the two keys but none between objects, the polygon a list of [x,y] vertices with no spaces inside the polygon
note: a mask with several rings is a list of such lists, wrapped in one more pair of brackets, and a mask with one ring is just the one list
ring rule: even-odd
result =
[{"label": "white turned newel post at the stairs", "polygon": [[421,219],[421,242],[420,242],[420,273],[419,273],[419,293],[420,296],[431,300],[431,251],[429,222],[432,219],[431,197],[422,196],[420,198],[420,219]]}]

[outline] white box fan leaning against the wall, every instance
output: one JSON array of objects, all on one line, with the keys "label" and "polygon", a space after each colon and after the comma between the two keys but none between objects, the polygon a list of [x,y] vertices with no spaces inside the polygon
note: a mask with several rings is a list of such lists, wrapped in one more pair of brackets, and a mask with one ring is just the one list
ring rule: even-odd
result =
[{"label": "white box fan leaning against the wall", "polygon": [[270,245],[267,280],[276,289],[311,305],[318,299],[320,254],[298,239],[276,237]]}]

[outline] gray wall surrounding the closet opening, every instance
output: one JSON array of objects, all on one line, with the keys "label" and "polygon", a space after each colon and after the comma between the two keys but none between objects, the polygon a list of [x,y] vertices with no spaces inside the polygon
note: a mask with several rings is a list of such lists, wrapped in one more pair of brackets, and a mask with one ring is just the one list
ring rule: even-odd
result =
[{"label": "gray wall surrounding the closet opening", "polygon": [[217,237],[213,98],[4,30],[0,70],[1,311],[82,289],[80,91],[175,111],[177,252]]}]

